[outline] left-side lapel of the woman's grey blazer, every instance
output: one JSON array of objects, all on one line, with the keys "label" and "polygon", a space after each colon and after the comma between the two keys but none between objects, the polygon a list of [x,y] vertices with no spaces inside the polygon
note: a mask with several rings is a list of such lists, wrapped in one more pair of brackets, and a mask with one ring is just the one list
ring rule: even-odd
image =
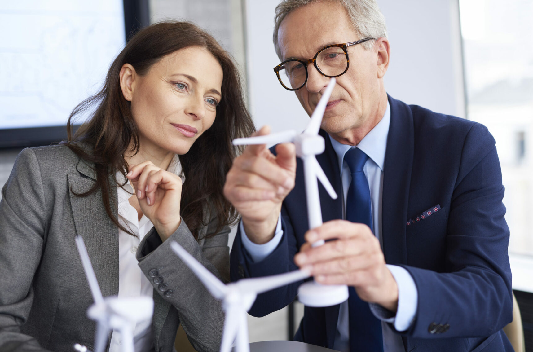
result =
[{"label": "left-side lapel of the woman's grey blazer", "polygon": [[[67,175],[70,206],[76,232],[85,242],[102,295],[104,297],[117,295],[118,229],[106,213],[100,190],[85,197],[74,194],[86,192],[94,186],[96,179],[94,170],[83,159],[80,159],[76,170],[79,174]],[[114,184],[111,185],[110,202],[112,212],[116,217],[118,215],[117,189],[113,186]]]}]

